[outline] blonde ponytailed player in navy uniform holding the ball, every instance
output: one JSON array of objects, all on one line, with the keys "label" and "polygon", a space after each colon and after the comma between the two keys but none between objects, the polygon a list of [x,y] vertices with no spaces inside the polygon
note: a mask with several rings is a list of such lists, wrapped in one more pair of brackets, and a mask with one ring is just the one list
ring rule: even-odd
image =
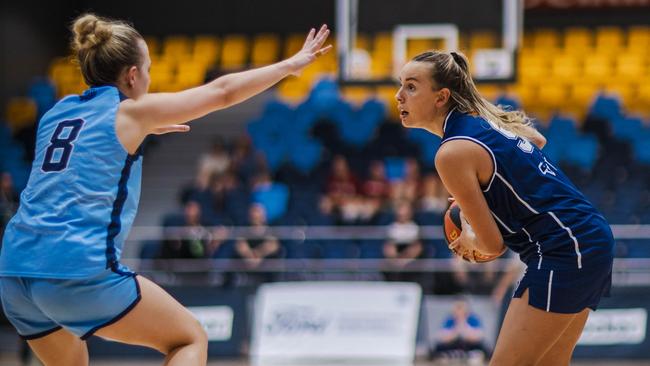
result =
[{"label": "blonde ponytailed player in navy uniform holding the ball", "polygon": [[442,138],[436,169],[465,217],[450,248],[496,256],[508,247],[527,265],[490,364],[568,365],[611,286],[607,221],[540,150],[546,140],[523,112],[481,97],[464,55],[420,54],[400,83],[402,124]]}]

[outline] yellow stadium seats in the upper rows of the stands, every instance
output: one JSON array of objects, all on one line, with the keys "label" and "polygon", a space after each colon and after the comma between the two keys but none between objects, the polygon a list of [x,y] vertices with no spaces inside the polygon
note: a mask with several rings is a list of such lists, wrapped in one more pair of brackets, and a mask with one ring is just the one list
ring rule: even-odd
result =
[{"label": "yellow stadium seats in the upper rows of the stands", "polygon": [[[281,37],[276,34],[146,37],[152,58],[151,91],[175,91],[199,85],[208,72],[217,73],[269,64],[288,57],[300,49],[303,34]],[[334,38],[331,43],[334,43]],[[390,33],[361,35],[357,48],[367,51],[368,75],[388,78],[392,73],[392,36]],[[460,48],[471,59],[473,51],[498,47],[500,40],[490,32],[461,34]],[[440,47],[436,40],[411,40],[407,56]],[[504,91],[516,95],[524,109],[543,119],[556,111],[572,112],[583,117],[594,96],[607,91],[618,94],[628,110],[650,113],[650,27],[571,27],[564,30],[535,29],[525,32],[518,54],[518,81],[505,88],[483,85],[490,98]],[[323,74],[337,70],[335,52],[321,57],[300,78],[283,81],[279,94],[286,100],[302,100]],[[78,67],[69,57],[53,60],[48,77],[56,87],[57,97],[85,89]],[[351,100],[363,101],[377,96],[388,105],[394,103],[393,87],[349,87],[342,90]],[[36,104],[38,100],[31,99]],[[34,103],[27,99],[9,102],[9,122],[20,116],[33,115]],[[389,108],[389,113],[394,113]],[[20,122],[16,122],[20,123]]]}]

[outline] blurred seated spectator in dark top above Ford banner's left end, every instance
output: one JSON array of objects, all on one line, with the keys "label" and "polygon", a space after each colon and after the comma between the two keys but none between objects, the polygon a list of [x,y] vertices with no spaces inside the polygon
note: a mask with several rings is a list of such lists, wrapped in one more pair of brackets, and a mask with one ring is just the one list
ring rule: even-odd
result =
[{"label": "blurred seated spectator in dark top above Ford banner's left end", "polygon": [[270,233],[264,206],[251,205],[247,234],[245,237],[237,238],[235,254],[243,259],[250,268],[258,267],[265,258],[277,257],[280,254],[280,243]]}]

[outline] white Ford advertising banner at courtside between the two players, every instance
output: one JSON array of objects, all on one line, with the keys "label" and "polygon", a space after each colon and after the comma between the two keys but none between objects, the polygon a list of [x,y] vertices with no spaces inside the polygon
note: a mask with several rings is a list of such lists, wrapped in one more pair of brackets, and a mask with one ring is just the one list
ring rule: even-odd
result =
[{"label": "white Ford advertising banner at courtside between the two players", "polygon": [[251,358],[413,361],[421,289],[413,283],[296,282],[262,286]]}]

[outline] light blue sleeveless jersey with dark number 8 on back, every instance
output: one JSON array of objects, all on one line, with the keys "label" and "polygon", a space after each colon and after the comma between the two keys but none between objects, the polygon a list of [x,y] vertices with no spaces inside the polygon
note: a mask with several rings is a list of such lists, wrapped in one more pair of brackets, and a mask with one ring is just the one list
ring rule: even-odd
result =
[{"label": "light blue sleeveless jersey with dark number 8 on back", "polygon": [[130,155],[115,132],[122,99],[113,86],[95,87],[43,116],[29,182],[4,234],[0,276],[71,279],[122,271],[142,175],[141,151]]}]

